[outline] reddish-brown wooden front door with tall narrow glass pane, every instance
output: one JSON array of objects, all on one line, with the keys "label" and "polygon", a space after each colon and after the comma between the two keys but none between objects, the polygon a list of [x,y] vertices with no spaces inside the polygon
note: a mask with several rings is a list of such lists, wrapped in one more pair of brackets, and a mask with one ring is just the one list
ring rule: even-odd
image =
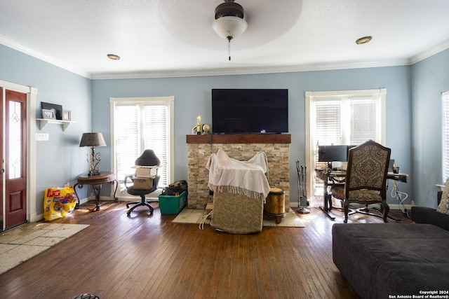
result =
[{"label": "reddish-brown wooden front door with tall narrow glass pane", "polygon": [[5,228],[27,222],[27,95],[5,95]]}]

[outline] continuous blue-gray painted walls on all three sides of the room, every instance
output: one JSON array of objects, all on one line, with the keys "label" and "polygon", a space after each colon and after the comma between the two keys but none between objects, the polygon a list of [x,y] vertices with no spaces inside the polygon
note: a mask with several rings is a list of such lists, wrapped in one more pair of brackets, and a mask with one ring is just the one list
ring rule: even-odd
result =
[{"label": "continuous blue-gray painted walls on all three sides of the room", "polygon": [[[449,90],[448,60],[449,50],[445,50],[412,67],[91,81],[0,45],[0,80],[37,88],[38,108],[40,102],[62,104],[76,121],[65,132],[59,125],[48,125],[43,131],[36,125],[36,132],[50,136],[50,141],[36,141],[37,214],[42,213],[45,188],[63,186],[67,181],[73,184],[74,178],[88,169],[84,161],[88,149],[79,148],[83,132],[105,135],[108,147],[101,148],[100,167],[110,168],[109,97],[175,96],[175,180],[186,179],[185,136],[196,116],[211,123],[212,88],[288,88],[292,202],[297,201],[295,160],[305,160],[304,92],[387,88],[386,145],[401,172],[410,174],[408,183],[400,186],[410,194],[405,203],[415,200],[416,204],[434,206],[434,184],[441,183],[441,92]],[[40,117],[39,111],[36,116]],[[86,191],[81,190],[80,197]]]}]

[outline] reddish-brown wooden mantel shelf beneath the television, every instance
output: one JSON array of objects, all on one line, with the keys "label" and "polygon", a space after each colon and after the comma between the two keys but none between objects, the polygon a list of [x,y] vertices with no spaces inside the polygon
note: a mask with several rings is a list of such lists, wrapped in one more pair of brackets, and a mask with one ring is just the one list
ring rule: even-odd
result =
[{"label": "reddish-brown wooden mantel shelf beneath the television", "polygon": [[290,144],[290,134],[187,135],[187,144]]}]

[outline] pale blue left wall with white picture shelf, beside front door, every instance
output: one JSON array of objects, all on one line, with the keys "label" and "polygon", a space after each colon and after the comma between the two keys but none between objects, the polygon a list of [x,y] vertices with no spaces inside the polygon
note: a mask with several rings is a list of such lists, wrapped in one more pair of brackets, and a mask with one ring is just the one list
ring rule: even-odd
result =
[{"label": "pale blue left wall with white picture shelf, beside front door", "polygon": [[[36,142],[36,213],[43,213],[43,192],[61,187],[88,169],[87,149],[79,148],[83,132],[91,132],[91,80],[52,64],[0,45],[0,80],[37,88],[36,118],[41,118],[41,102],[60,104],[72,111],[65,132],[61,125],[47,125],[36,133],[48,134],[49,141]],[[83,198],[86,189],[81,191]]]}]

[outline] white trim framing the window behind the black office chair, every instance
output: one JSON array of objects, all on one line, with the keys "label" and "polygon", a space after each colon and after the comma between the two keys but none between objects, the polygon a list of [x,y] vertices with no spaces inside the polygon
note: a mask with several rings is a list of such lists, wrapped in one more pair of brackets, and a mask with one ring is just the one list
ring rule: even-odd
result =
[{"label": "white trim framing the window behind the black office chair", "polygon": [[[170,169],[167,169],[168,181],[172,182],[175,178],[175,97],[110,97],[110,132],[111,132],[111,169],[116,172],[116,148],[115,148],[115,134],[114,134],[114,110],[116,104],[126,104],[126,103],[151,103],[151,104],[163,104],[167,105],[170,110],[170,148],[168,149],[168,158],[170,161]],[[113,193],[114,190],[111,190]],[[119,190],[117,190],[119,193]]]}]

